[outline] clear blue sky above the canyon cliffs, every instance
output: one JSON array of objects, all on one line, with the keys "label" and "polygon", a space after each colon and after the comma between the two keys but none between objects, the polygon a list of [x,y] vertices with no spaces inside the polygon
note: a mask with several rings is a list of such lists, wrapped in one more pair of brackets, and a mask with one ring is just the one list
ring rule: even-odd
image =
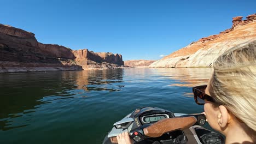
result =
[{"label": "clear blue sky above the canyon cliffs", "polygon": [[113,52],[123,60],[160,59],[256,13],[256,1],[0,1],[0,23],[40,43]]}]

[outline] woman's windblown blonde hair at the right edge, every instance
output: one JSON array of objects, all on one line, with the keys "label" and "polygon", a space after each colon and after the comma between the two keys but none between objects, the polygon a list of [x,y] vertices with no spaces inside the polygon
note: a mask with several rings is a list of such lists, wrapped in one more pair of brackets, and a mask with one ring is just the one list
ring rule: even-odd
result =
[{"label": "woman's windblown blonde hair at the right edge", "polygon": [[256,40],[238,45],[213,64],[210,94],[256,131]]}]

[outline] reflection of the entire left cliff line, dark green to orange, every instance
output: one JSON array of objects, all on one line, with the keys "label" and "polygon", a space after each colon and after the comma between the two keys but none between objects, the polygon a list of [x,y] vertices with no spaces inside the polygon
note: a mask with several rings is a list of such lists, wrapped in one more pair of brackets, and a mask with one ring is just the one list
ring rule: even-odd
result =
[{"label": "reflection of the entire left cliff line, dark green to orange", "polygon": [[[57,71],[48,73],[24,73],[0,75],[0,130],[25,127],[30,119],[14,118],[32,116],[42,104],[71,99],[84,91],[120,91],[124,85],[123,69]],[[82,91],[79,91],[82,90]]]}]

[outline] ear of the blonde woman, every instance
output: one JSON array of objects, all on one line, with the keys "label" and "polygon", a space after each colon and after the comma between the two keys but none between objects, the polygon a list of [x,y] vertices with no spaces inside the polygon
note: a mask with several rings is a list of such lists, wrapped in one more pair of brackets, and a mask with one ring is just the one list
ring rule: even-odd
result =
[{"label": "ear of the blonde woman", "polygon": [[220,128],[225,128],[228,124],[229,113],[226,107],[223,105],[219,106],[219,110],[220,113],[218,113],[218,124]]}]

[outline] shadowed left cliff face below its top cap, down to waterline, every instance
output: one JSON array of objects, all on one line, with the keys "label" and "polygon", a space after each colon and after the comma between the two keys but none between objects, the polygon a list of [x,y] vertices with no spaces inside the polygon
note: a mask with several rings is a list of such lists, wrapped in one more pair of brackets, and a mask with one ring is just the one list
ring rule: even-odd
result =
[{"label": "shadowed left cliff face below its top cap, down to waterline", "polygon": [[45,45],[36,38],[20,38],[0,33],[0,72],[82,70],[71,50]]}]

